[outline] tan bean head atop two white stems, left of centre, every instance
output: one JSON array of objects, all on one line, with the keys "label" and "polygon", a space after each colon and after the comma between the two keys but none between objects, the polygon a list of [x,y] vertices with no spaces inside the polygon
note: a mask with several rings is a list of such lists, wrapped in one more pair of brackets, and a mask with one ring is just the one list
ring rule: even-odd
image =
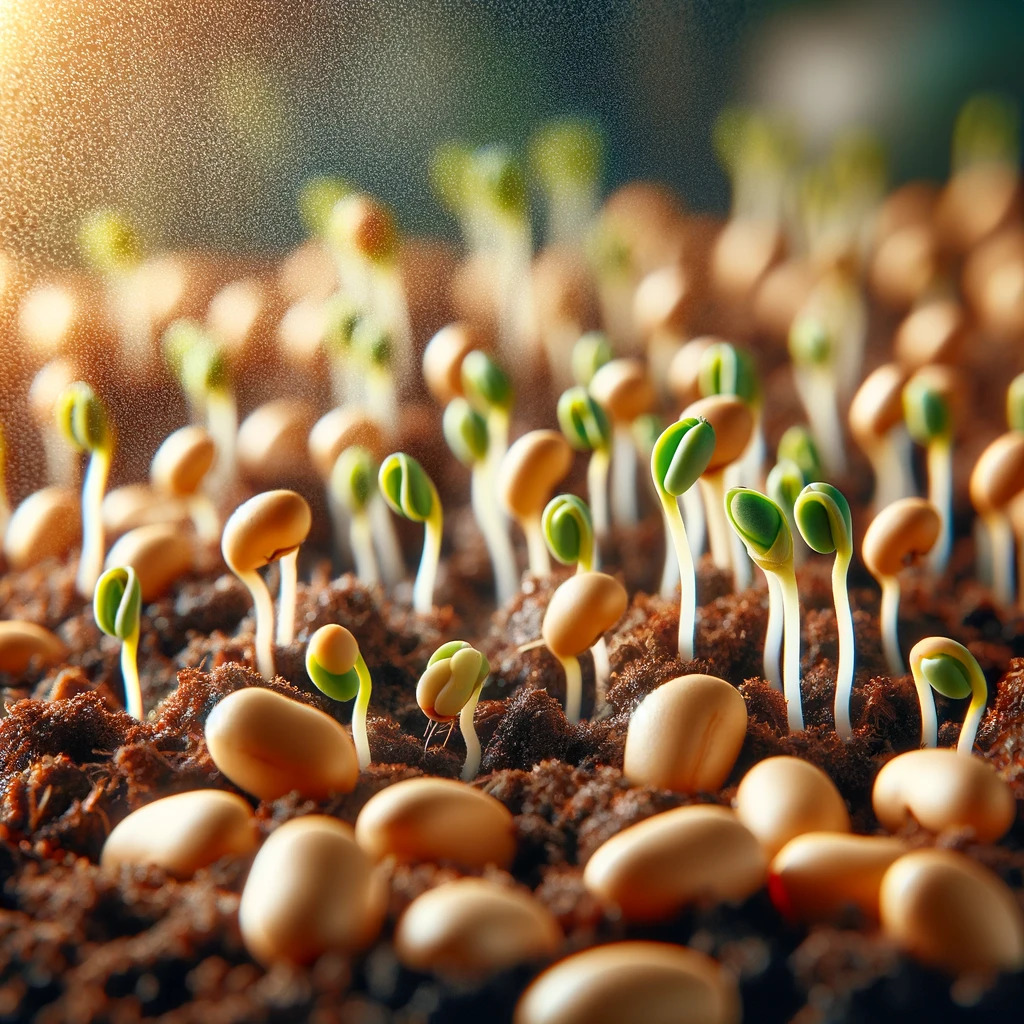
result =
[{"label": "tan bean head atop two white stems, left of centre", "polygon": [[265,490],[243,502],[224,524],[224,561],[234,572],[251,572],[293,552],[311,525],[312,514],[301,495]]}]

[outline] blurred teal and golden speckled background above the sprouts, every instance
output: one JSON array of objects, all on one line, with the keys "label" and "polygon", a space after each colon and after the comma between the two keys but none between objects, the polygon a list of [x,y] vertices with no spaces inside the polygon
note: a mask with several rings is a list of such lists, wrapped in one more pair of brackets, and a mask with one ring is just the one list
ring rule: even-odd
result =
[{"label": "blurred teal and golden speckled background above the sprouts", "polygon": [[276,252],[319,173],[455,236],[434,147],[519,146],[564,114],[606,132],[606,186],[724,211],[711,131],[736,101],[812,152],[870,127],[893,181],[941,179],[965,97],[1024,95],[1022,52],[1006,0],[0,0],[0,241],[73,263],[83,211],[110,205],[147,248]]}]

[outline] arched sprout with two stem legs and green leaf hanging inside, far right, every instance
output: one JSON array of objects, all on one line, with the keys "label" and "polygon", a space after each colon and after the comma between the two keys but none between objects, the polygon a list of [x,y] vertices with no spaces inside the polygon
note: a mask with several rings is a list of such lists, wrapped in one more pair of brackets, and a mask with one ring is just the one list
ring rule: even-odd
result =
[{"label": "arched sprout with two stem legs and green leaf hanging inside, far right", "polygon": [[971,697],[956,743],[956,752],[970,757],[988,699],[988,684],[978,659],[955,640],[926,637],[910,648],[910,672],[921,703],[922,746],[935,746],[938,741],[935,699],[931,691],[952,700]]}]

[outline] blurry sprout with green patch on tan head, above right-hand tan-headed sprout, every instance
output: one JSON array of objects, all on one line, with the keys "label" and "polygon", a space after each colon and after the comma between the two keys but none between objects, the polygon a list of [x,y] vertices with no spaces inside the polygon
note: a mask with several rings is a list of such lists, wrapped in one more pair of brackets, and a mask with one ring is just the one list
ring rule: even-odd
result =
[{"label": "blurry sprout with green patch on tan head, above right-hand tan-headed sprout", "polygon": [[952,547],[953,431],[957,397],[955,371],[929,366],[919,370],[903,388],[903,416],[910,436],[927,451],[928,500],[941,517],[942,528],[929,556],[936,574],[945,571]]}]

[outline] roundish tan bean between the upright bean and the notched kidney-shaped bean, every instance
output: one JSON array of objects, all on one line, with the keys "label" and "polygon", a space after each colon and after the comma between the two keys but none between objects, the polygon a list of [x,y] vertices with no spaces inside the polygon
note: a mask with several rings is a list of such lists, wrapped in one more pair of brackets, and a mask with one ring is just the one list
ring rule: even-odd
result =
[{"label": "roundish tan bean between the upright bean and the notched kidney-shaped bean", "polygon": [[759,761],[740,781],[733,806],[769,857],[804,833],[850,830],[850,814],[836,783],[801,758]]}]

